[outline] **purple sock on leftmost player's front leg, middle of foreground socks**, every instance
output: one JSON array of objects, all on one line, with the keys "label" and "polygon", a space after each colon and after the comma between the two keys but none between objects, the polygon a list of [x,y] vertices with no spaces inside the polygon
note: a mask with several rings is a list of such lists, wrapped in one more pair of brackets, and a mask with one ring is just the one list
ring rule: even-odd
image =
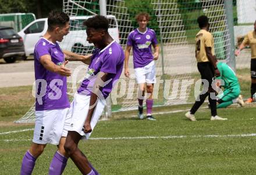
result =
[{"label": "purple sock on leftmost player's front leg, middle of foreground socks", "polygon": [[54,158],[52,158],[52,162],[49,167],[49,175],[62,174],[66,165],[67,158],[65,158],[65,156],[61,155],[61,153],[57,151],[54,155]]}]

